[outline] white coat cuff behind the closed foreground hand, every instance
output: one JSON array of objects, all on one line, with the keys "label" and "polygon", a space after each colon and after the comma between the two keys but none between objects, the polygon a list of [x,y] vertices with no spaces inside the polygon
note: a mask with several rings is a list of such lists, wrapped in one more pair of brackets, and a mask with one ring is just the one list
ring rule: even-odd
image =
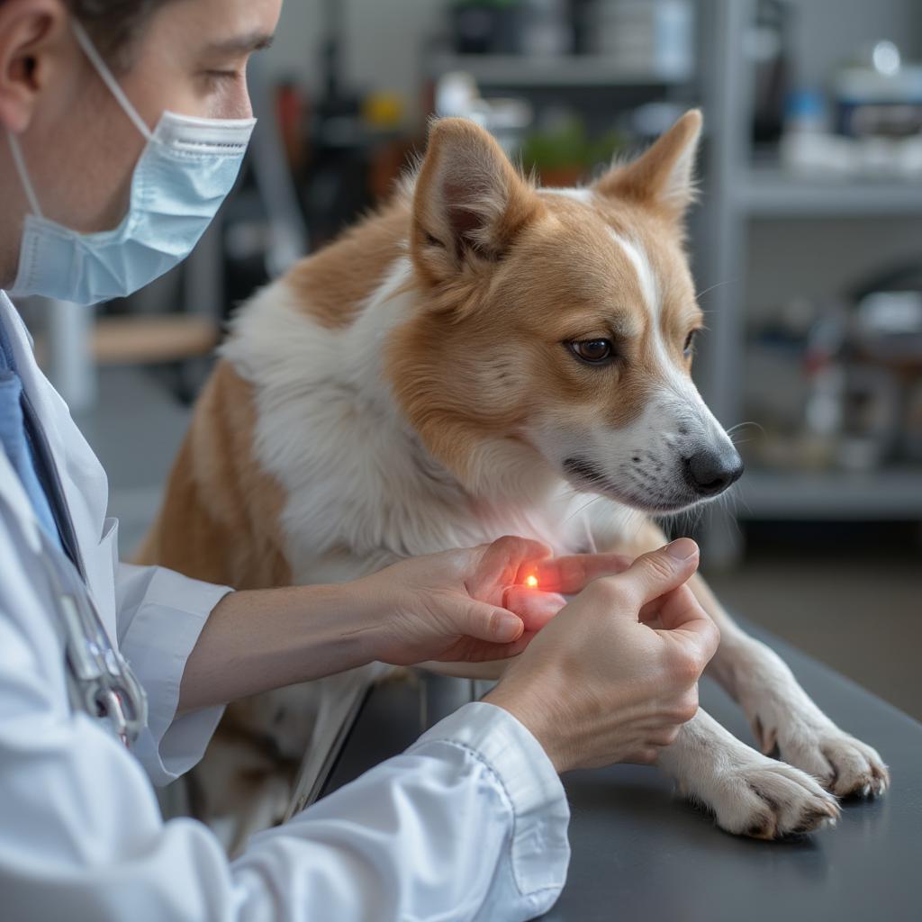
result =
[{"label": "white coat cuff behind the closed foreground hand", "polygon": [[544,911],[561,891],[570,864],[570,808],[548,754],[513,715],[485,702],[465,704],[424,733],[408,753],[440,742],[471,751],[499,780],[514,814],[515,886]]}]

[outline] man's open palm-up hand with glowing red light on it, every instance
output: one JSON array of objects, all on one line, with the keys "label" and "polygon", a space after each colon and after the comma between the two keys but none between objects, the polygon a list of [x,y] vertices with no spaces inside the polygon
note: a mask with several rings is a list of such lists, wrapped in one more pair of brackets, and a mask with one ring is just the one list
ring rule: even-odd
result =
[{"label": "man's open palm-up hand with glowing red light on it", "polygon": [[[371,610],[374,657],[396,666],[485,662],[521,653],[576,593],[620,573],[618,554],[554,558],[526,538],[400,561],[352,584]],[[540,588],[524,585],[533,576]]]}]

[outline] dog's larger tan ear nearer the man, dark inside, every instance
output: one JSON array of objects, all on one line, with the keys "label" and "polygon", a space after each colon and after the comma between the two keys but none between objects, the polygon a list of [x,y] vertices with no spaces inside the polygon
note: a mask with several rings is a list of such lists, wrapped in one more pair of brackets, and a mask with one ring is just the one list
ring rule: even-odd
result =
[{"label": "dog's larger tan ear nearer the man, dark inside", "polygon": [[496,262],[543,206],[478,124],[433,122],[416,181],[410,247],[433,282],[471,261]]}]

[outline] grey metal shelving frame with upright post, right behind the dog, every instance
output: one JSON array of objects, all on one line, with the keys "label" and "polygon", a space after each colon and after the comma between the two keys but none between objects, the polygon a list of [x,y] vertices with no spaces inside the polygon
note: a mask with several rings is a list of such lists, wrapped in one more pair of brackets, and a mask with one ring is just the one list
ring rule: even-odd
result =
[{"label": "grey metal shelving frame with upright post, right behind the dog", "polygon": [[[892,13],[909,0],[882,4]],[[816,221],[860,222],[919,219],[922,254],[922,183],[837,177],[802,177],[779,167],[753,164],[752,65],[740,35],[748,34],[754,0],[713,0],[704,5],[706,38],[703,101],[708,112],[703,212],[695,239],[703,288],[715,285],[704,304],[710,334],[697,373],[704,396],[725,425],[744,420],[747,333],[747,278],[753,259],[754,222],[784,222],[786,232],[818,233]],[[805,6],[805,5],[802,5]],[[817,5],[818,6],[818,5]],[[828,6],[828,5],[827,5]],[[886,10],[885,10],[886,12]],[[897,10],[897,12],[899,12]],[[847,15],[847,11],[844,11]],[[872,10],[866,14],[873,18]],[[915,13],[917,14],[917,11]],[[854,23],[843,20],[840,56],[851,53]],[[920,24],[922,28],[922,24]],[[834,32],[834,29],[833,29]],[[885,33],[881,38],[888,37]],[[896,36],[900,39],[901,36]],[[800,41],[809,41],[802,36]],[[823,36],[827,56],[836,36]],[[847,266],[847,254],[843,265]],[[779,273],[785,267],[778,266]],[[792,291],[791,294],[796,293]],[[741,481],[739,520],[922,520],[922,466],[868,473],[750,470]],[[704,540],[712,563],[739,557],[741,532],[727,516],[712,515]]]}]

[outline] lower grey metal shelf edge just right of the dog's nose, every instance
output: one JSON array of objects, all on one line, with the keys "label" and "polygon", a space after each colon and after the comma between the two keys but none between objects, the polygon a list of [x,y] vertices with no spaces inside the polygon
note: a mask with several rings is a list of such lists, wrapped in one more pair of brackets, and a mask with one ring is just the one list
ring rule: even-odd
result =
[{"label": "lower grey metal shelf edge just right of the dog's nose", "polygon": [[739,481],[739,519],[922,518],[922,466],[867,473],[748,471]]}]

